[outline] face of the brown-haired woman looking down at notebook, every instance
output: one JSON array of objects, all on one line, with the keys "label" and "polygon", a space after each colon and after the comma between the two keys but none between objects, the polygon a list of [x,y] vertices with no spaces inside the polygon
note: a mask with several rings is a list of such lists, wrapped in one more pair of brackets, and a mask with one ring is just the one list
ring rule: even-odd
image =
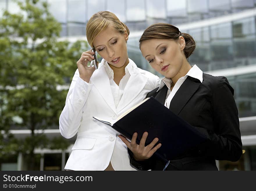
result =
[{"label": "face of the brown-haired woman looking down at notebook", "polygon": [[141,42],[141,53],[152,68],[167,78],[174,78],[182,70],[185,47],[184,38],[150,39]]}]

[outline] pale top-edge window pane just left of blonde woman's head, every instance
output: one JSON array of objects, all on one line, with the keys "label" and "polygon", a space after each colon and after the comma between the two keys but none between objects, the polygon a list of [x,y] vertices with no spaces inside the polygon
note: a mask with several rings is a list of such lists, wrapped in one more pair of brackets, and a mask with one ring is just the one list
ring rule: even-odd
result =
[{"label": "pale top-edge window pane just left of blonde woman's head", "polygon": [[67,7],[67,20],[71,22],[86,22],[86,1],[69,0]]}]

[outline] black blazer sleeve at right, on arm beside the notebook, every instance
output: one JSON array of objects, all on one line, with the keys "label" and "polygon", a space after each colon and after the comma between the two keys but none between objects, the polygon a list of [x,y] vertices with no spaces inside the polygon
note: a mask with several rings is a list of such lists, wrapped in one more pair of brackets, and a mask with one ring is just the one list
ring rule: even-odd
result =
[{"label": "black blazer sleeve at right, on arm beside the notebook", "polygon": [[207,155],[215,160],[237,161],[242,155],[238,110],[234,100],[234,89],[227,78],[219,76],[212,92],[211,112],[214,132],[198,128],[210,139]]}]

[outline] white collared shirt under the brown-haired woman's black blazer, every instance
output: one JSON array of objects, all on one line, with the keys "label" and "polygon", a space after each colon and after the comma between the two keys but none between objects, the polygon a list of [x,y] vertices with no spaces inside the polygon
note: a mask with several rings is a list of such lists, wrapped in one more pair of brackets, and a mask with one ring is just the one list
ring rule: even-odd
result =
[{"label": "white collared shirt under the brown-haired woman's black blazer", "polygon": [[178,81],[175,83],[172,91],[170,90],[170,86],[173,83],[172,80],[170,78],[166,78],[166,77],[164,77],[161,80],[161,83],[160,83],[160,86],[159,86],[159,89],[157,90],[157,92],[159,92],[159,90],[161,90],[164,85],[166,85],[168,87],[164,106],[166,106],[167,108],[170,108],[170,103],[171,103],[174,95],[179,90],[180,86],[183,84],[183,82],[186,80],[186,78],[188,76],[200,80],[201,83],[203,82],[203,72],[196,65],[193,65],[193,67],[189,70],[189,72],[185,76],[178,79]]}]

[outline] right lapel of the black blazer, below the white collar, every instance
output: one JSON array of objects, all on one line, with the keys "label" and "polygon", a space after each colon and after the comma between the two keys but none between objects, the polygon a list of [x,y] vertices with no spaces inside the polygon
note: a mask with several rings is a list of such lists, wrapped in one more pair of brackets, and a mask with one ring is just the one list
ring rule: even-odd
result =
[{"label": "right lapel of the black blazer, below the white collar", "polygon": [[180,111],[199,88],[200,84],[198,79],[188,76],[174,95],[170,103],[170,110],[176,115],[179,115]]}]

